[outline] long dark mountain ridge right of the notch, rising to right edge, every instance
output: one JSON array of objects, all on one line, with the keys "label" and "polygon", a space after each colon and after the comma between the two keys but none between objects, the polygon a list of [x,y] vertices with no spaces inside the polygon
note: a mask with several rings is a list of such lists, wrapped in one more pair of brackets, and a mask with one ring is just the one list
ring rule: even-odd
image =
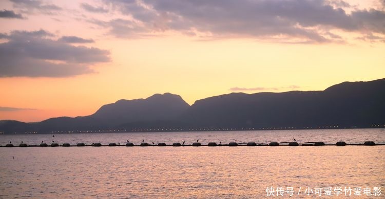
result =
[{"label": "long dark mountain ridge right of the notch, rising to right edge", "polygon": [[182,117],[207,127],[370,127],[385,124],[385,79],[325,91],[232,93],[196,101]]}]

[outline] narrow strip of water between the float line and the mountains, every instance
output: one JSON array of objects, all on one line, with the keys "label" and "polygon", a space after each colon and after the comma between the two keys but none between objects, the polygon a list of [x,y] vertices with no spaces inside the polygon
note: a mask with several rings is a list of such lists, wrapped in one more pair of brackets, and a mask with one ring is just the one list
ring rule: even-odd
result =
[{"label": "narrow strip of water between the float line and the mountains", "polygon": [[91,143],[126,143],[126,141],[140,144],[145,142],[159,143],[165,142],[172,144],[183,141],[191,144],[199,139],[202,144],[208,142],[291,142],[293,137],[299,143],[322,141],[326,144],[335,144],[338,141],[346,143],[363,143],[364,141],[374,141],[375,143],[385,143],[385,130],[382,129],[321,129],[321,130],[265,130],[265,131],[204,131],[204,132],[127,132],[127,133],[103,133],[103,134],[35,134],[35,135],[0,135],[0,145],[5,146],[9,141],[18,145],[23,141],[30,145],[38,145],[42,141],[51,143],[70,143],[72,145],[79,142]]}]

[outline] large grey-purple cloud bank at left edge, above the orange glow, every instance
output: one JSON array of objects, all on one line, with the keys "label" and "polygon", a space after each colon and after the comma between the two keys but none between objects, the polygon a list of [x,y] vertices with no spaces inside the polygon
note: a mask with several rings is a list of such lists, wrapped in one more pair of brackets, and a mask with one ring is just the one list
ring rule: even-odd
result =
[{"label": "large grey-purple cloud bank at left edge, above the orange glow", "polygon": [[108,51],[71,46],[54,36],[44,30],[0,34],[8,40],[0,43],[0,77],[74,76],[94,72],[94,63],[110,61]]}]

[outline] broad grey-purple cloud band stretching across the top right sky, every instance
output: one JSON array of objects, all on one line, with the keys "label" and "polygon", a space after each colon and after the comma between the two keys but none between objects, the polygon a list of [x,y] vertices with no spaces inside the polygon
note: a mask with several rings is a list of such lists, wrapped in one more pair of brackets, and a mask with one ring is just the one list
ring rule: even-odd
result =
[{"label": "broad grey-purple cloud band stretching across the top right sky", "polygon": [[[382,1],[382,0],[381,0]],[[110,33],[124,35],[178,31],[207,37],[252,37],[303,42],[341,41],[333,30],[385,34],[384,10],[353,10],[343,1],[324,0],[142,0],[105,1],[131,19],[107,21]],[[290,41],[290,40],[287,40]]]}]

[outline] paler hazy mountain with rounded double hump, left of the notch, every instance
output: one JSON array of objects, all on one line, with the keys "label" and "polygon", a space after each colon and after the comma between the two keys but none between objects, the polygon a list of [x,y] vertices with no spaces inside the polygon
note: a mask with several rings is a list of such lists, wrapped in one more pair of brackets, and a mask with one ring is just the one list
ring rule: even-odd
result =
[{"label": "paler hazy mountain with rounded double hump, left of the notch", "polygon": [[146,99],[118,100],[84,117],[59,117],[35,125],[37,131],[110,129],[125,123],[174,120],[189,108],[179,95],[155,94]]}]

